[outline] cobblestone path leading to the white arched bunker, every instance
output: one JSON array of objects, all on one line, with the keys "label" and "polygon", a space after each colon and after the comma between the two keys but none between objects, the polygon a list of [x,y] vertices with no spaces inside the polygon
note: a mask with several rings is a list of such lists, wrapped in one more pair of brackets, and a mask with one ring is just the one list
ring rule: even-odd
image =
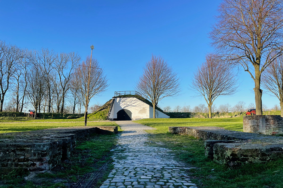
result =
[{"label": "cobblestone path leading to the white arched bunker", "polygon": [[147,145],[153,129],[132,121],[116,121],[123,129],[113,149],[114,169],[100,188],[198,188],[184,170],[190,168],[173,159],[169,149]]}]

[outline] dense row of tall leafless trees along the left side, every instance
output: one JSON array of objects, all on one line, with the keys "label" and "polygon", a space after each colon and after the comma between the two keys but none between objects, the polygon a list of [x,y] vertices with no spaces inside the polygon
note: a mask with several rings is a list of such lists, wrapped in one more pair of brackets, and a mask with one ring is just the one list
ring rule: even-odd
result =
[{"label": "dense row of tall leafless trees along the left side", "polygon": [[[30,108],[53,113],[75,113],[77,109],[81,113],[84,92],[78,91],[74,83],[82,81],[82,75],[88,74],[88,70],[78,73],[80,63],[81,56],[76,52],[57,53],[48,48],[27,50],[0,41],[0,112],[22,112]],[[99,67],[98,63],[95,66]],[[103,71],[93,72],[106,79]],[[102,89],[93,84],[90,96],[107,86]]]}]

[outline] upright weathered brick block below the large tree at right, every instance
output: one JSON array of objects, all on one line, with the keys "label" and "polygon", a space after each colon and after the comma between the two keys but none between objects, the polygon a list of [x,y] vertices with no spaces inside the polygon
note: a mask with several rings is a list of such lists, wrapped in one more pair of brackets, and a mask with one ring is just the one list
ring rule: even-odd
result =
[{"label": "upright weathered brick block below the large tree at right", "polygon": [[283,118],[277,115],[243,116],[243,130],[267,135],[283,134]]}]

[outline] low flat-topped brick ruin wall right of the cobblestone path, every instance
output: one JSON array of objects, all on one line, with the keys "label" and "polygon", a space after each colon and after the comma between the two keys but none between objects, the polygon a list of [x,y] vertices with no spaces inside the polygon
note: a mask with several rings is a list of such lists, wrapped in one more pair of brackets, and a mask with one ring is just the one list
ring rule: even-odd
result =
[{"label": "low flat-topped brick ruin wall right of the cobblestone path", "polygon": [[169,127],[174,134],[187,134],[205,140],[205,156],[216,163],[237,166],[264,163],[282,158],[283,138],[220,127]]}]

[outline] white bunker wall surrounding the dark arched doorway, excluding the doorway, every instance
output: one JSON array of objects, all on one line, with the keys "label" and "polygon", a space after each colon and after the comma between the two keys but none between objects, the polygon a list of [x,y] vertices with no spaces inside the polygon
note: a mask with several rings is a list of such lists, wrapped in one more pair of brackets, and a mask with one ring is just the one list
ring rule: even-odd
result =
[{"label": "white bunker wall surrounding the dark arched doorway, excluding the doorway", "polygon": [[132,112],[132,120],[149,118],[149,105],[134,97],[115,98],[109,118],[117,118],[117,112],[122,109]]}]

